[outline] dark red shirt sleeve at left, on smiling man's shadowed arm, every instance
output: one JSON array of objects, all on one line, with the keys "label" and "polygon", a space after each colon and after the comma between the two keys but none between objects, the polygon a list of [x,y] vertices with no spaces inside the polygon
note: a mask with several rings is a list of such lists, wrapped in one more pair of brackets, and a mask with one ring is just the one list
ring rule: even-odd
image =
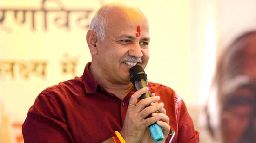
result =
[{"label": "dark red shirt sleeve at left, on smiling man's shadowed arm", "polygon": [[25,143],[74,143],[60,103],[39,94],[22,125]]}]

